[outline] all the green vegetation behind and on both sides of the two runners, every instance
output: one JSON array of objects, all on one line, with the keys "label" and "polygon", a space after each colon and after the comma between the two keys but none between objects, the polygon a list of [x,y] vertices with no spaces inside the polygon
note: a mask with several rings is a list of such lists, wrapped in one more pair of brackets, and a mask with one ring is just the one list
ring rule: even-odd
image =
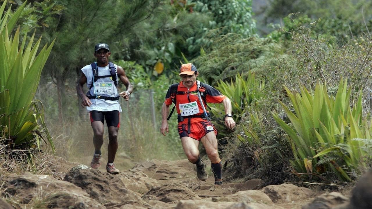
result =
[{"label": "all the green vegetation behind and on both sides of the two runners", "polygon": [[1,173],[44,172],[35,156],[33,167],[12,170],[16,152],[3,146],[39,151],[47,142],[45,152],[90,162],[93,133],[75,86],[97,42],[110,45],[135,89],[120,101],[122,169],[185,158],[175,116],[166,137],[159,127],[164,96],[188,60],[232,101],[234,130],[223,125],[222,105],[211,105],[226,179],[343,184],[371,164],[369,1],[272,0],[265,18],[275,30],[263,37],[251,0],[23,2],[0,9]]}]

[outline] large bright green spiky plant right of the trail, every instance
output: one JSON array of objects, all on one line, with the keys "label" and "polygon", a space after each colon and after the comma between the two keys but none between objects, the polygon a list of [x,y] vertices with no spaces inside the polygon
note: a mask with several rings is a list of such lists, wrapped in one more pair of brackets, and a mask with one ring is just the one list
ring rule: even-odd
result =
[{"label": "large bright green spiky plant right of the trail", "polygon": [[360,149],[362,141],[371,139],[371,130],[362,120],[362,91],[356,105],[349,106],[351,87],[341,79],[336,97],[328,96],[327,86],[317,83],[315,91],[300,87],[301,94],[285,87],[294,113],[281,104],[291,121],[285,123],[277,113],[275,120],[288,134],[294,160],[291,165],[299,176],[315,176],[329,181],[336,174],[341,181],[351,180],[353,173],[365,168],[367,154]]}]

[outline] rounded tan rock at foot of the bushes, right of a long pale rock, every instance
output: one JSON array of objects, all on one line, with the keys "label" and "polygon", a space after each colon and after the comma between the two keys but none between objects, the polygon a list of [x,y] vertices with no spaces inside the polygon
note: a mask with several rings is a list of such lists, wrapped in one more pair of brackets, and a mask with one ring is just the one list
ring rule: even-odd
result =
[{"label": "rounded tan rock at foot of the bushes, right of a long pale rock", "polygon": [[276,202],[292,202],[299,199],[307,199],[311,190],[305,187],[298,187],[293,184],[269,185],[263,187],[262,192]]}]

